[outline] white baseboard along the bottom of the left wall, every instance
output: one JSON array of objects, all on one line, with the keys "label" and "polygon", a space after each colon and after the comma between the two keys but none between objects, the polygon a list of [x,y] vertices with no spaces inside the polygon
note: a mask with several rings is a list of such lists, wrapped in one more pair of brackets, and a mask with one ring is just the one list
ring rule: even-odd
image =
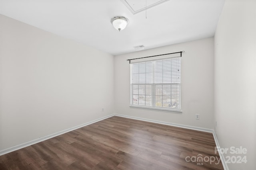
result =
[{"label": "white baseboard along the bottom of the left wall", "polygon": [[64,133],[67,133],[67,132],[70,132],[70,131],[74,131],[74,130],[76,130],[76,129],[78,129],[78,128],[81,128],[81,127],[90,125],[90,124],[92,124],[92,123],[96,123],[96,122],[98,122],[98,121],[107,119],[107,118],[112,117],[112,116],[114,116],[114,114],[108,115],[108,116],[105,116],[105,117],[102,117],[102,118],[99,118],[99,119],[96,119],[96,120],[93,120],[93,121],[89,121],[89,122],[84,123],[84,124],[82,124],[82,125],[78,125],[78,126],[75,126],[75,127],[71,127],[71,128],[69,128],[69,129],[66,129],[66,130],[63,130],[63,131],[59,131],[59,132],[53,133],[53,134],[51,134],[51,135],[47,135],[47,136],[45,136],[45,137],[40,137],[40,138],[38,138],[38,139],[34,139],[34,140],[32,140],[32,141],[28,141],[28,142],[26,142],[26,143],[22,143],[22,144],[20,144],[20,145],[14,146],[14,147],[10,147],[10,148],[4,149],[4,150],[0,150],[0,156],[1,156],[1,155],[4,155],[4,154],[7,154],[7,153],[10,153],[10,152],[13,152],[13,151],[18,150],[18,149],[22,149],[22,148],[24,148],[24,147],[28,147],[28,146],[30,146],[30,145],[34,145],[34,144],[36,144],[36,143],[45,141],[45,140],[47,140],[47,139],[56,137],[56,136],[58,136],[58,135],[62,135],[62,134],[64,134]]}]

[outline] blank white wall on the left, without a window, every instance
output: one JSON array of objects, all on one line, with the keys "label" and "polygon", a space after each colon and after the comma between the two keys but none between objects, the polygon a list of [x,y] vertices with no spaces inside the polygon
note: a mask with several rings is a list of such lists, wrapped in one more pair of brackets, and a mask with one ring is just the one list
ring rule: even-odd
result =
[{"label": "blank white wall on the left, without a window", "polygon": [[112,55],[0,15],[0,150],[112,114],[113,64]]}]

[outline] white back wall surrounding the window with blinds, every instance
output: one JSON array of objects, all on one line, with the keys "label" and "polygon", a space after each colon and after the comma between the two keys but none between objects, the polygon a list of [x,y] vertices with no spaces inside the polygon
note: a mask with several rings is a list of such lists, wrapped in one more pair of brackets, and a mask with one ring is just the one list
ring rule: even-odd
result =
[{"label": "white back wall surrounding the window with blinds", "polygon": [[[177,51],[182,54],[182,114],[130,108],[130,64],[126,59]],[[202,39],[114,57],[117,114],[213,129],[214,39]],[[200,120],[195,119],[200,114]]]}]

